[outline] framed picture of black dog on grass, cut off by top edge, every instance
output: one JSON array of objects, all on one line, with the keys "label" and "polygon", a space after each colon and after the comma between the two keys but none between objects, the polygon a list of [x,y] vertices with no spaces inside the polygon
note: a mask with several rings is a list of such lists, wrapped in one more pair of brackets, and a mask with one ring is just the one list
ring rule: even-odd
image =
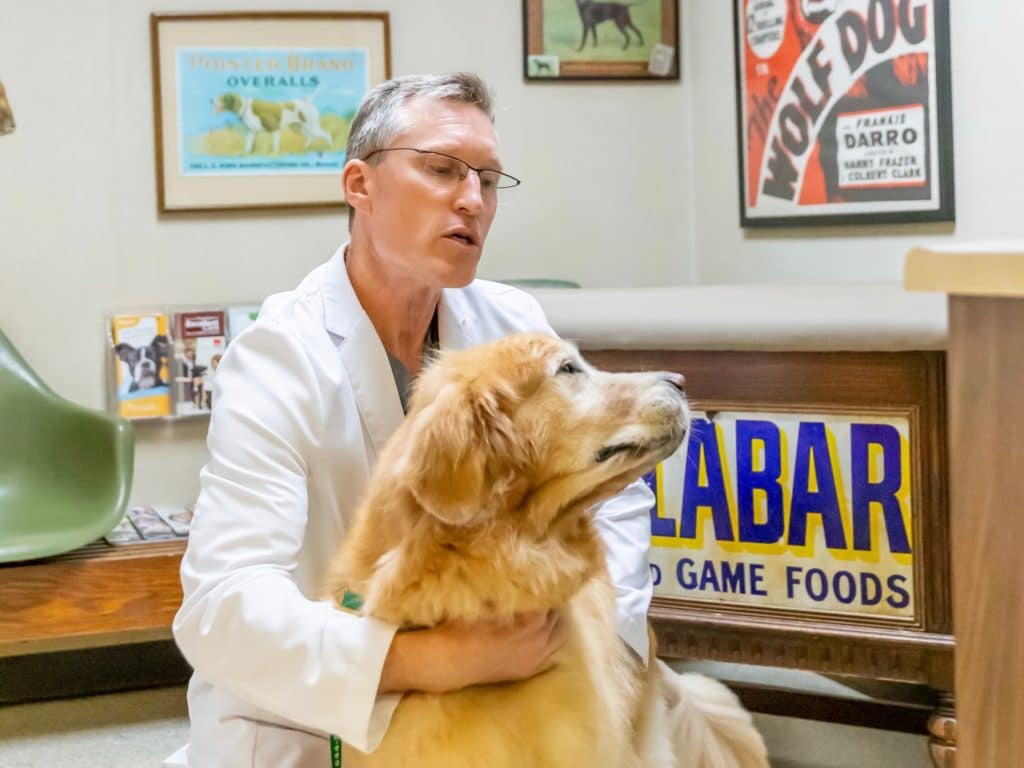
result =
[{"label": "framed picture of black dog on grass, cut off by top edge", "polygon": [[523,0],[528,81],[678,80],[679,0]]}]

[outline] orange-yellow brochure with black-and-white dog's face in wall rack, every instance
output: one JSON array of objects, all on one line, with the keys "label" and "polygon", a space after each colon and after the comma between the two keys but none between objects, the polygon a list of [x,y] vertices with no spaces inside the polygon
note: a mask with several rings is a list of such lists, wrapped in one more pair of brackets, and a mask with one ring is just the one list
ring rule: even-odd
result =
[{"label": "orange-yellow brochure with black-and-white dog's face in wall rack", "polygon": [[126,419],[170,415],[167,315],[162,312],[115,315],[111,335],[117,354],[118,413]]}]

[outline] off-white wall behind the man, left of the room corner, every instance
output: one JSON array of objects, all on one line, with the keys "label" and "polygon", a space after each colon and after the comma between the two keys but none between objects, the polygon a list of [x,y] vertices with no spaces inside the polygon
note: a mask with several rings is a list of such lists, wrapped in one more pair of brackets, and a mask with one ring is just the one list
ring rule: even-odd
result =
[{"label": "off-white wall behind the man, left of the room corner", "polygon": [[[258,300],[345,238],[345,214],[159,217],[148,14],[280,0],[0,0],[0,80],[17,130],[0,139],[0,330],[60,394],[103,404],[112,308]],[[685,282],[685,85],[525,84],[518,0],[307,0],[388,10],[392,72],[476,71],[498,104],[503,203],[481,274],[587,286]],[[198,489],[205,423],[139,425],[135,503]]]}]

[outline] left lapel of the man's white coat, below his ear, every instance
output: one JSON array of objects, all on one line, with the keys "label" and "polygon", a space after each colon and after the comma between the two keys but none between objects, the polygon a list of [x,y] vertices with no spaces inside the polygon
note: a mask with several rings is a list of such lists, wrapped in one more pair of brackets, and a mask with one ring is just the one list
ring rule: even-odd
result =
[{"label": "left lapel of the man's white coat, below his ear", "polygon": [[404,415],[387,351],[348,280],[344,246],[328,264],[323,296],[327,330],[343,339],[339,347],[341,364],[359,418],[380,455]]}]

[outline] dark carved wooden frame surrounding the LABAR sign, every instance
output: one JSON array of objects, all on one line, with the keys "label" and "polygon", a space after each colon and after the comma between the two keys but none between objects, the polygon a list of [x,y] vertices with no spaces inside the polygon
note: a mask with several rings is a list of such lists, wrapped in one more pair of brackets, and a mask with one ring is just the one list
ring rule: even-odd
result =
[{"label": "dark carved wooden frame surrounding the LABAR sign", "polygon": [[912,413],[919,620],[799,615],[654,598],[658,652],[762,664],[951,690],[952,621],[946,481],[945,367],[937,352],[593,351],[600,368],[685,374],[695,410],[879,409]]}]

